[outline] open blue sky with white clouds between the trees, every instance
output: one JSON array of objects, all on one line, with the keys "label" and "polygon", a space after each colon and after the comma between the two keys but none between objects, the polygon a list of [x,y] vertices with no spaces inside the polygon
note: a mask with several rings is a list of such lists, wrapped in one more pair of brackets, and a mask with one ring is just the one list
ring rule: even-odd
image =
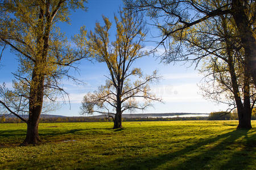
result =
[{"label": "open blue sky with white clouds between the trees", "polygon": [[[122,6],[122,1],[89,0],[87,6],[88,10],[86,12],[82,10],[71,12],[71,24],[58,24],[61,32],[65,32],[68,38],[75,35],[82,25],[85,25],[88,30],[93,29],[96,22],[102,22],[102,15],[113,21],[114,13],[118,11],[119,6]],[[155,33],[156,29],[150,28],[150,31]],[[114,31],[110,33],[114,36]],[[147,40],[150,40],[150,36]],[[150,49],[154,48],[156,44],[145,42],[145,45],[147,49]],[[162,48],[159,48],[159,52],[162,50]],[[4,51],[0,65],[0,83],[5,82],[10,86],[14,78],[11,73],[14,73],[18,67],[16,57],[10,52],[10,49]],[[164,65],[160,63],[159,58],[148,56],[135,62],[134,67],[141,67],[145,74],[158,70],[159,74],[163,76],[159,84],[152,84],[151,87],[156,95],[162,97],[164,104],[155,102],[154,108],[148,108],[143,113],[210,113],[227,109],[226,105],[216,105],[203,99],[197,86],[203,76],[198,74],[199,71],[195,70],[194,66],[189,67],[189,65],[183,65],[183,63]],[[69,109],[68,104],[61,105],[59,109],[51,114],[80,116],[82,96],[87,92],[97,90],[98,86],[105,83],[104,75],[108,75],[108,70],[104,63],[91,63],[84,60],[80,62],[79,68],[80,74],[76,73],[75,76],[86,82],[84,86],[77,86],[73,82],[63,79],[64,89],[69,93],[71,99],[71,109]],[[142,113],[142,111],[136,113]]]}]

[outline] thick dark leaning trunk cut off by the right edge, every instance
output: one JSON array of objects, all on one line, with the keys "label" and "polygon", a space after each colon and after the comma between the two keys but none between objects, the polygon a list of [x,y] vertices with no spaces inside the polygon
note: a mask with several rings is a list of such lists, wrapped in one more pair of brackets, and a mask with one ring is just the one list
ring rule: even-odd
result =
[{"label": "thick dark leaning trunk cut off by the right edge", "polygon": [[242,47],[245,50],[245,57],[247,58],[247,61],[249,61],[247,62],[246,67],[249,68],[249,73],[253,78],[253,82],[256,87],[256,44],[253,32],[250,28],[249,18],[245,11],[244,1],[232,1],[232,15],[238,28]]}]

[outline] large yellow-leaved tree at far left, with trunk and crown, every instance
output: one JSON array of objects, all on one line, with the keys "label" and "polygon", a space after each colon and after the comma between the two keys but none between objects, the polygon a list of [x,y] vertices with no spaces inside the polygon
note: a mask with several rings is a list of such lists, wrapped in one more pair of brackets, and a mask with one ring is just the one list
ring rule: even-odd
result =
[{"label": "large yellow-leaved tree at far left, with trunk and crown", "polygon": [[[15,112],[12,108],[17,105],[17,97],[22,97],[22,112],[29,115],[28,120],[18,116],[27,123],[23,145],[40,143],[38,123],[44,97],[54,101],[52,92],[63,92],[60,79],[63,76],[73,78],[68,74],[69,68],[74,67],[75,61],[85,57],[84,48],[72,48],[56,27],[58,22],[68,22],[69,9],[85,9],[84,2],[20,0],[0,3],[1,44],[9,46],[19,59],[19,68],[14,74],[17,79],[14,91],[2,88],[0,103],[7,111],[18,116],[19,110]],[[81,37],[77,35],[72,40],[82,46],[85,40]]]}]

